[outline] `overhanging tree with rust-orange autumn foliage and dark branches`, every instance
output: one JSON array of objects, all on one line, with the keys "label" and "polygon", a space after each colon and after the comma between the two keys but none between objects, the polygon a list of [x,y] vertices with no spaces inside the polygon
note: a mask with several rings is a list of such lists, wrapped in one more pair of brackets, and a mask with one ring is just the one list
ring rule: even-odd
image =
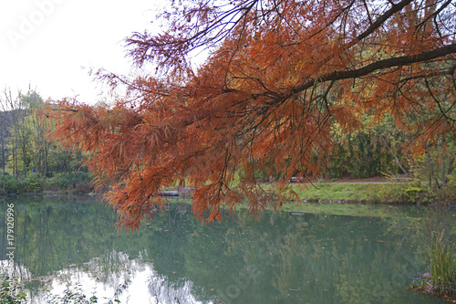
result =
[{"label": "overhanging tree with rust-orange autumn foliage and dark branches", "polygon": [[[335,152],[332,126],[358,131],[366,112],[372,123],[392,115],[418,150],[421,139],[454,133],[451,0],[171,5],[163,32],[126,39],[135,64],[154,67],[149,74],[98,71],[112,86],[128,84],[124,99],[47,110],[53,136],[89,152],[96,183],[111,183],[119,225],[137,228],[164,204],[163,187],[183,184],[202,220],[242,203],[256,214],[270,204],[258,168],[281,173],[280,201],[292,175],[318,173],[322,155]],[[208,54],[199,65],[198,54]],[[425,112],[435,115],[421,119]]]}]

